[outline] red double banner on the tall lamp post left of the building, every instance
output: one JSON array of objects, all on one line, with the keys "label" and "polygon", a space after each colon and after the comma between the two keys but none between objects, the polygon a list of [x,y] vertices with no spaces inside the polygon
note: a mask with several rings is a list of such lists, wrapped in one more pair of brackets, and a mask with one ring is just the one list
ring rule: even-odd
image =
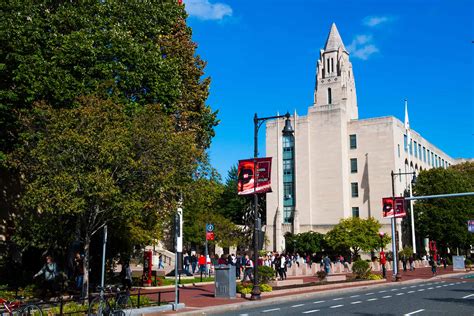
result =
[{"label": "red double banner on the tall lamp post left of the building", "polygon": [[239,195],[248,195],[256,193],[271,192],[271,174],[272,158],[257,158],[257,185],[254,188],[255,172],[254,172],[254,160],[245,159],[239,160],[238,169],[238,188],[237,192]]}]

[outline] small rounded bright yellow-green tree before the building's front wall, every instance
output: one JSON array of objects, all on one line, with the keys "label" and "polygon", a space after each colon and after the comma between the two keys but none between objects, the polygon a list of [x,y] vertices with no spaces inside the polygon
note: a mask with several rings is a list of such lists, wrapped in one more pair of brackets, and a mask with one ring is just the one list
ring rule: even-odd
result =
[{"label": "small rounded bright yellow-green tree before the building's front wall", "polygon": [[[326,234],[326,241],[334,250],[351,250],[354,258],[359,251],[372,251],[380,247],[379,230],[382,226],[373,217],[362,219],[351,217],[341,219],[339,224]],[[390,237],[385,235],[383,245],[390,242]]]}]

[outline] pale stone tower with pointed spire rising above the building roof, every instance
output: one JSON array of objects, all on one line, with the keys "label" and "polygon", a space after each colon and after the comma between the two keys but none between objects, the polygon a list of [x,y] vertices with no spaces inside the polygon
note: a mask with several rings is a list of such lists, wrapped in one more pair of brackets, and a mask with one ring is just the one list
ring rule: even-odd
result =
[{"label": "pale stone tower with pointed spire rising above the building roof", "polygon": [[348,120],[359,117],[352,64],[334,23],[317,63],[314,107],[320,111],[339,107]]}]

